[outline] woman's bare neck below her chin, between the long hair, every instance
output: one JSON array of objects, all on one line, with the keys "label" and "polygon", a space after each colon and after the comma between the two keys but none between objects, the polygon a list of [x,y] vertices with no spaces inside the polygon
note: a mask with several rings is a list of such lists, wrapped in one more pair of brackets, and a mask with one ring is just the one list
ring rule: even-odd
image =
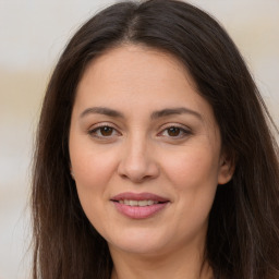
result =
[{"label": "woman's bare neck below her chin, between the long hair", "polygon": [[213,270],[204,260],[203,251],[192,247],[138,255],[110,247],[114,265],[111,279],[213,279]]}]

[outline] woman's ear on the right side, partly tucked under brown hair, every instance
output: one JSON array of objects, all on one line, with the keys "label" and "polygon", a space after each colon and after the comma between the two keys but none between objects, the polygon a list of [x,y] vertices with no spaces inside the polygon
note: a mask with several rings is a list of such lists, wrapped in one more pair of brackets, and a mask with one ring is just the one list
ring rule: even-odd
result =
[{"label": "woman's ear on the right side, partly tucked under brown hair", "polygon": [[218,173],[218,184],[228,183],[235,170],[235,159],[233,156],[228,156],[222,154],[219,161],[219,173]]}]

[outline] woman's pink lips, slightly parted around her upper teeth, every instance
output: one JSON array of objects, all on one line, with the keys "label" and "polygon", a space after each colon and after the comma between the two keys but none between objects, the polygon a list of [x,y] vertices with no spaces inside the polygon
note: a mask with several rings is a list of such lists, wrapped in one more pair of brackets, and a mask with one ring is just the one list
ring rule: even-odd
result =
[{"label": "woman's pink lips, slightly parted around her upper teeth", "polygon": [[[133,201],[156,201],[159,204],[154,204],[149,206],[130,206],[125,204],[120,204],[119,201],[133,199]],[[155,214],[162,210],[168,204],[169,199],[151,194],[151,193],[121,193],[111,198],[117,210],[132,219],[145,219],[154,216]]]}]

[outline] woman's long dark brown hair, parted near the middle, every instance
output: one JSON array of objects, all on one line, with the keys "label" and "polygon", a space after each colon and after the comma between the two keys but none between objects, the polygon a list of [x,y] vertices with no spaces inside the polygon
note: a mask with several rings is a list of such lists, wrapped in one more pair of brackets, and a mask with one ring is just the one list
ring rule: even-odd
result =
[{"label": "woman's long dark brown hair, parted near the middle", "polygon": [[70,175],[68,135],[85,68],[125,43],[168,51],[184,63],[214,109],[222,148],[235,161],[234,175],[218,186],[209,216],[205,257],[215,278],[278,279],[279,163],[270,117],[222,27],[199,9],[174,0],[113,4],[85,23],[63,51],[37,134],[33,278],[110,278],[107,243],[83,213]]}]

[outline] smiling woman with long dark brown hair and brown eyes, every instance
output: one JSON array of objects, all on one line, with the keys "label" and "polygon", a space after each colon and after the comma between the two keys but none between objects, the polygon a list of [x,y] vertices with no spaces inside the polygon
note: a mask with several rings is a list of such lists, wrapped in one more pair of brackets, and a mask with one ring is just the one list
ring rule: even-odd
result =
[{"label": "smiling woman with long dark brown hair and brown eyes", "polygon": [[205,12],[149,0],[95,15],[41,110],[33,278],[279,278],[267,121],[238,49]]}]

